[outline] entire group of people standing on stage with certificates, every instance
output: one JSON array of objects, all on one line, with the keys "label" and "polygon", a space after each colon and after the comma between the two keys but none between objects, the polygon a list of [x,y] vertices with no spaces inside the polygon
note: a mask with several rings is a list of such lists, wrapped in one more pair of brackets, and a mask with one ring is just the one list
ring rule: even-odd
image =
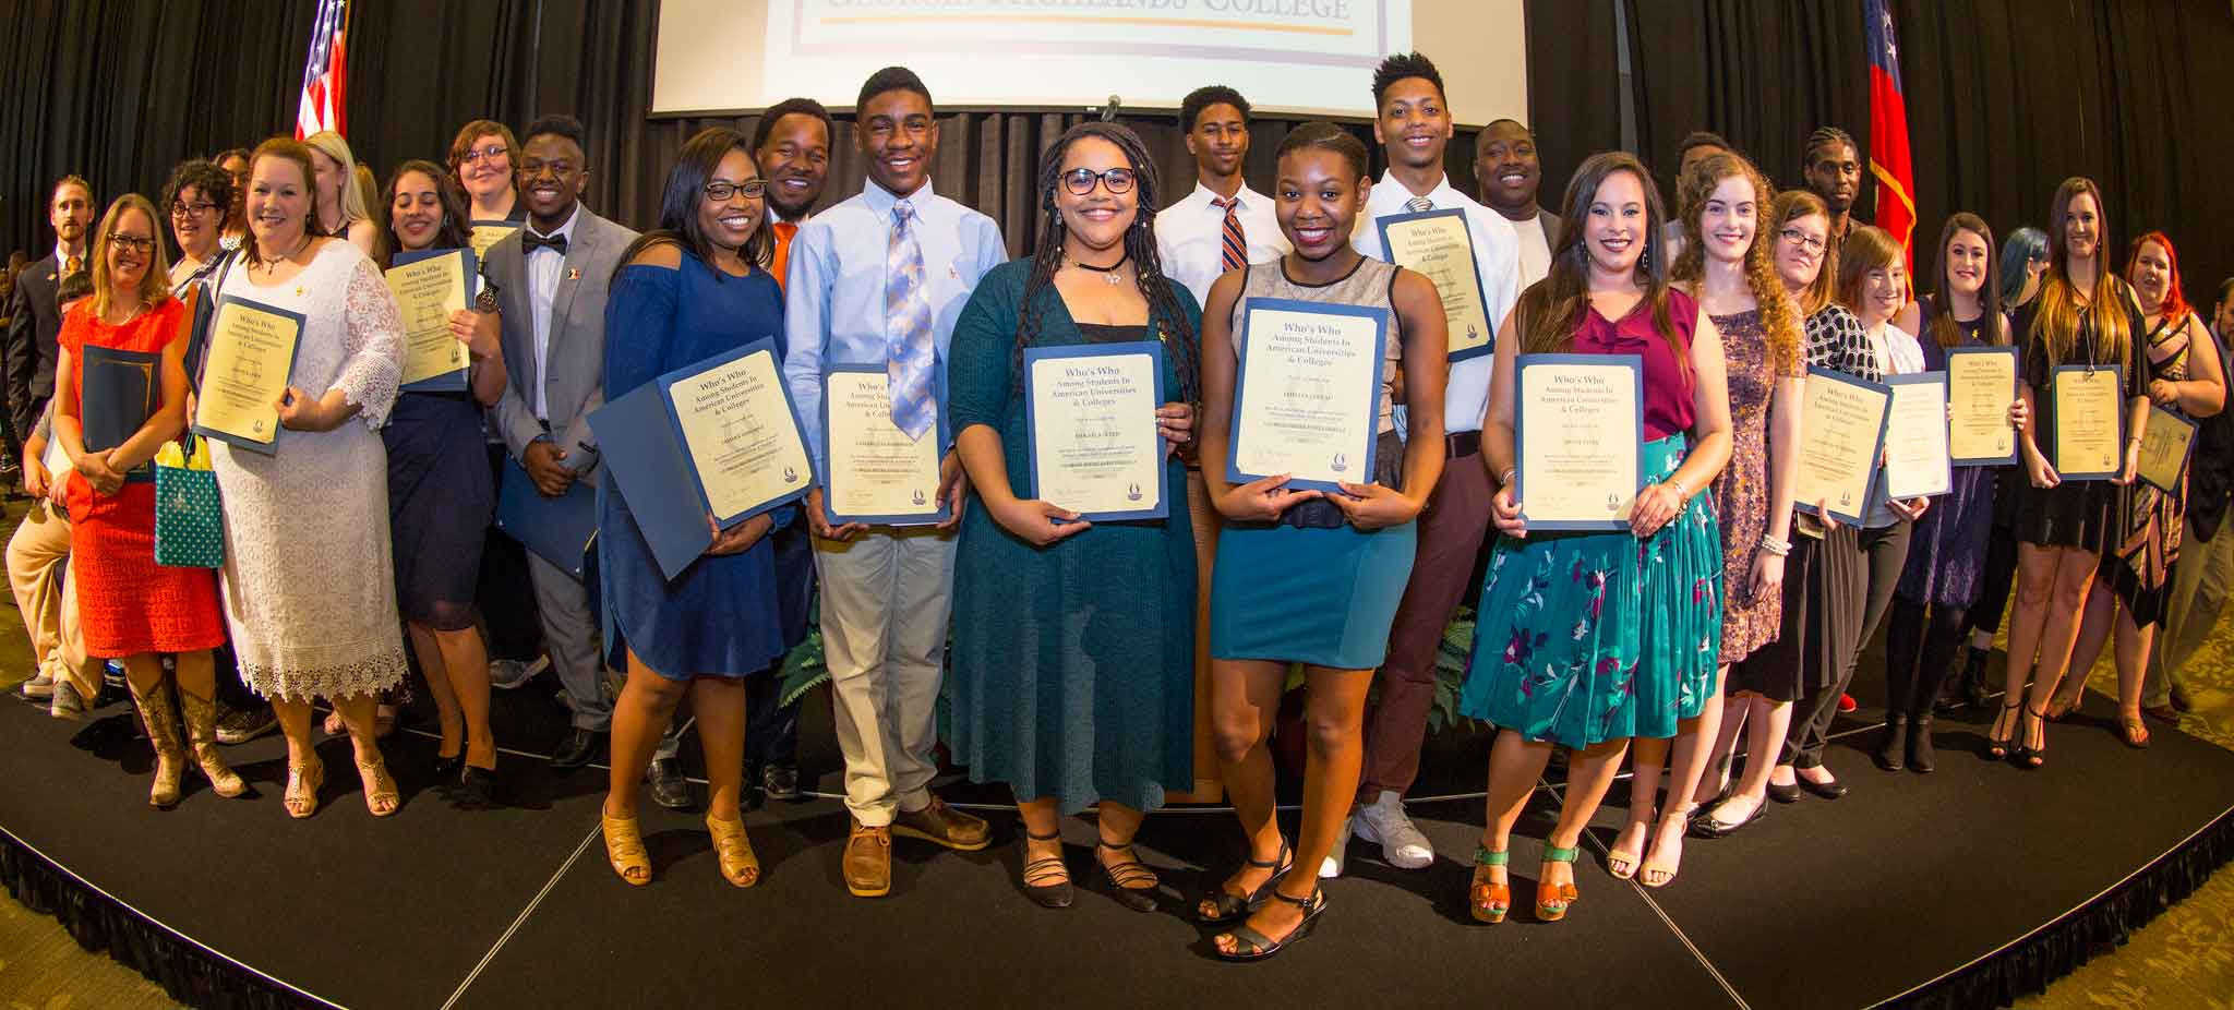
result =
[{"label": "entire group of people standing on stage with certificates", "polygon": [[[1966,612],[1999,610],[2011,577],[2022,606],[1995,755],[2040,766],[2042,722],[2075,697],[2058,695],[2066,664],[2091,659],[2111,630],[2125,733],[2147,742],[2147,635],[2185,606],[2169,579],[2183,496],[2131,480],[2138,438],[2149,402],[2205,418],[2225,382],[2216,344],[2180,299],[2167,237],[2142,237],[2131,284],[2120,279],[2102,197],[2071,179],[2037,255],[2020,241],[1999,248],[1984,221],[1955,215],[1919,255],[1935,273],[1910,299],[1901,246],[1850,217],[1859,159],[1843,132],[1810,136],[1803,190],[1776,192],[1707,136],[1682,152],[1673,215],[1622,152],[1586,159],[1546,212],[1535,139],[1519,123],[1479,136],[1483,203],[1445,179],[1452,112],[1425,56],[1387,58],[1374,103],[1381,179],[1367,177],[1354,134],[1307,123],[1280,139],[1269,197],[1242,181],[1249,103],[1233,89],[1204,87],[1182,105],[1197,181],[1177,199],[1128,127],[1070,127],[1037,165],[1037,241],[1014,261],[992,219],[932,188],[938,121],[929,89],[903,67],[873,74],[858,96],[862,192],[820,212],[833,123],[811,101],[768,109],[755,136],[693,136],[643,235],[581,203],[585,143],[563,116],[521,141],[471,123],[447,168],[398,165],[384,226],[349,201],[357,165],[337,136],[266,141],[239,177],[183,165],[165,194],[176,266],[156,206],[114,201],[92,239],[92,297],[60,326],[51,438],[67,474],[47,483],[34,471],[38,445],[25,465],[40,474],[34,492],[56,487],[67,503],[83,646],[123,659],[156,744],[152,800],[176,802],[188,769],[221,795],[241,789],[208,746],[208,650],[228,639],[241,679],[279,713],[290,816],[319,802],[315,697],[340,713],[371,813],[395,811],[375,695],[402,684],[407,641],[442,708],[442,775],[467,798],[498,798],[474,601],[505,483],[550,509],[596,516],[594,585],[579,559],[529,556],[529,568],[576,717],[599,704],[605,670],[619,673],[603,840],[630,885],[652,878],[637,827],[646,766],[672,755],[686,702],[706,751],[719,871],[737,887],[757,883],[742,822],[748,708],[773,706],[764,686],[804,635],[806,583],[820,585],[844,755],[851,894],[889,892],[896,836],[963,851],[992,840],[985,820],[929,791],[943,682],[952,758],[974,780],[1014,789],[1021,887],[1046,907],[1075,898],[1061,818],[1088,807],[1099,880],[1128,907],[1157,907],[1157,874],[1133,836],[1146,811],[1195,791],[1206,726],[1247,858],[1195,914],[1224,927],[1213,945],[1240,961],[1309,934],[1327,907],[1320,880],[1340,874],[1352,836],[1381,842],[1398,867],[1434,860],[1401,798],[1419,771],[1436,646],[1477,588],[1459,711],[1501,728],[1470,883],[1472,914],[1490,923],[1510,912],[1512,825],[1555,749],[1571,758],[1535,896],[1544,921],[1577,901],[1579,836],[1629,751],[1629,822],[1608,867],[1653,887],[1678,874],[1687,833],[1727,836],[1801,791],[1843,795],[1823,744],[1888,610],[1899,614],[1888,766],[1932,769],[1930,720],[1973,623]],[[235,192],[246,221],[237,255],[217,235]],[[1387,261],[1374,221],[1419,210],[1463,212],[1499,320],[1492,355],[1450,362],[1434,282]],[[465,248],[476,223],[505,219],[518,230],[487,248],[476,306],[451,317],[474,362],[467,391],[400,391],[402,324],[380,268],[404,250]],[[277,456],[210,447],[226,509],[221,579],[156,565],[147,485],[121,480],[185,429],[194,351],[174,293],[197,286],[304,315]],[[1376,467],[1363,483],[1229,483],[1197,463],[1226,458],[1238,335],[1249,302],[1267,297],[1390,320]],[[952,518],[833,525],[813,489],[715,530],[699,561],[663,577],[585,418],[764,337],[818,465],[829,366],[887,366],[896,422],[918,438],[941,427],[898,411],[936,402],[952,431],[938,492]],[[1023,351],[1139,340],[1166,349],[1171,402],[1155,420],[1173,447],[1168,483],[1186,487],[1188,507],[1090,523],[1032,498],[1021,480]],[[1879,496],[1859,525],[1794,512],[1807,505],[1794,503],[1794,460],[1810,369],[1877,380],[1944,369],[1950,349],[2004,344],[2024,353],[2024,391],[2008,411],[2022,471],[1959,469],[1950,494]],[[85,346],[163,353],[161,407],[107,451],[83,447],[74,360]],[[1524,353],[1642,358],[1649,485],[1629,530],[1539,532],[1521,518]],[[2051,404],[2035,391],[2073,362],[2125,369],[2133,422],[2116,480],[2060,483],[2049,465]],[[494,474],[485,429],[505,445]],[[2006,539],[2020,545],[2004,556],[1990,545]],[[1296,666],[1307,762],[1289,838],[1267,740]],[[165,677],[185,742],[170,728]],[[87,688],[78,673],[63,679]],[[1376,679],[1378,704],[1367,706]],[[594,728],[576,720],[576,733]],[[1740,733],[1751,755],[1743,775]]]}]

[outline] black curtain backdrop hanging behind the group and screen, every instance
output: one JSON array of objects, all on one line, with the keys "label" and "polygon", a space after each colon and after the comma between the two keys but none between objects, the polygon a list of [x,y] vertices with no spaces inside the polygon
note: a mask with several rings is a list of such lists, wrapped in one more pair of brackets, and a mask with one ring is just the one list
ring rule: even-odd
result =
[{"label": "black curtain backdrop hanging behind the group and screen", "polygon": [[[1622,139],[1613,7],[1631,45],[1638,147],[1673,183],[1676,143],[1716,130],[1780,185],[1823,123],[1870,145],[1859,0],[1530,0],[1530,125],[1546,201],[1593,150]],[[590,203],[646,228],[668,159],[695,130],[753,118],[650,118],[659,4],[643,0],[357,0],[351,4],[349,134],[360,159],[440,159],[469,118],[525,125],[567,112],[590,127]],[[0,0],[0,250],[51,244],[47,185],[63,172],[105,201],[156,192],[199,154],[290,132],[313,0]],[[2044,223],[2066,174],[2109,194],[2113,250],[2149,228],[2180,246],[2187,293],[2234,273],[2234,130],[2205,103],[2234,94],[2234,16],[2218,0],[1894,0],[1917,170],[1917,239],[1950,210],[1997,230]],[[1430,47],[1432,51],[1432,47]],[[2218,96],[2218,98],[2214,98]],[[1459,109],[1466,114],[1466,109]],[[1079,114],[954,109],[936,165],[947,192],[1001,221],[1012,250],[1037,237],[1030,172]],[[1168,114],[1121,116],[1148,141],[1166,199],[1193,185]],[[1251,185],[1293,121],[1258,123]],[[1367,125],[1352,125],[1372,139]],[[827,201],[860,190],[838,125]],[[1472,134],[1450,147],[1472,192]],[[1374,150],[1374,170],[1381,170]],[[1863,185],[1861,208],[1874,206]],[[1919,248],[1919,270],[1932,255]]]}]

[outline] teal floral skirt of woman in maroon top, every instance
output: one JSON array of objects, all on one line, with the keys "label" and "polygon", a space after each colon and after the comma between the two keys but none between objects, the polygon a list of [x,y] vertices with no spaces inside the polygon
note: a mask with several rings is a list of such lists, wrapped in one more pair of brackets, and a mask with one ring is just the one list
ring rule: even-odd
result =
[{"label": "teal floral skirt of woman in maroon top", "polygon": [[[1644,445],[1667,480],[1684,436]],[[1528,740],[1591,746],[1673,737],[1713,690],[1722,650],[1722,534],[1700,492],[1651,539],[1501,536],[1481,585],[1459,711]]]}]

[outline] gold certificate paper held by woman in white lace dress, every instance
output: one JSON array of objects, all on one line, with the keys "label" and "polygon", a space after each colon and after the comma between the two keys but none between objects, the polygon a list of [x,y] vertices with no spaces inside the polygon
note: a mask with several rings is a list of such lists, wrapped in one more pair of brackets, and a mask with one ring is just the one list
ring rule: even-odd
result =
[{"label": "gold certificate paper held by woman in white lace dress", "polygon": [[295,366],[302,317],[255,302],[221,299],[201,362],[194,429],[270,451],[279,438],[279,398]]}]

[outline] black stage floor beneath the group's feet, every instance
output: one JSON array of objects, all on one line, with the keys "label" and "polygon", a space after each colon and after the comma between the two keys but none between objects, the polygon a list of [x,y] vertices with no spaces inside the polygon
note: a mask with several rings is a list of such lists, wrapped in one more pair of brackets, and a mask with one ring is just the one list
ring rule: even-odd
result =
[{"label": "black stage floor beneath the group's feet", "polygon": [[[433,740],[402,733],[389,746],[404,784],[395,818],[364,811],[349,744],[328,740],[326,804],[293,822],[277,735],[228,749],[259,798],[221,800],[190,780],[163,813],[145,804],[150,753],[116,717],[123,706],[65,724],[0,704],[0,876],[190,1003],[1859,1008],[1990,1006],[2035,990],[2234,856],[2234,753],[2169,728],[2129,751],[2109,699],[2089,697],[2075,726],[2051,726],[2049,766],[2033,773],[1975,758],[1984,726],[1964,720],[1941,722],[1939,773],[1881,773],[1861,751],[1870,724],[1841,722],[1830,766],[1852,795],[1691,840],[1662,889],[1604,871],[1622,782],[1591,833],[1582,901],[1557,925],[1528,912],[1559,789],[1546,782],[1512,847],[1515,918],[1486,927],[1466,916],[1463,860],[1483,816],[1488,735],[1452,733],[1432,742],[1414,791],[1430,798],[1414,816],[1436,865],[1398,871],[1358,845],[1314,936],[1267,965],[1224,965],[1184,901],[1238,858],[1224,811],[1148,820],[1144,858],[1171,896],[1146,916],[1092,892],[1068,912],[1025,903],[1019,831],[1001,813],[992,849],[900,840],[894,894],[849,898],[833,798],[746,816],[766,867],[748,892],[719,880],[699,818],[646,804],[659,876],[632,889],[605,867],[596,831],[605,775],[552,775],[529,755],[561,724],[550,688],[500,695],[500,711],[518,751],[505,758],[514,809],[454,809],[424,789]],[[804,762],[836,791],[820,695],[804,724]],[[695,746],[686,753],[695,762]],[[1434,798],[1452,793],[1468,795]],[[947,795],[1005,800],[967,782]],[[1066,827],[1081,883],[1090,831]]]}]

